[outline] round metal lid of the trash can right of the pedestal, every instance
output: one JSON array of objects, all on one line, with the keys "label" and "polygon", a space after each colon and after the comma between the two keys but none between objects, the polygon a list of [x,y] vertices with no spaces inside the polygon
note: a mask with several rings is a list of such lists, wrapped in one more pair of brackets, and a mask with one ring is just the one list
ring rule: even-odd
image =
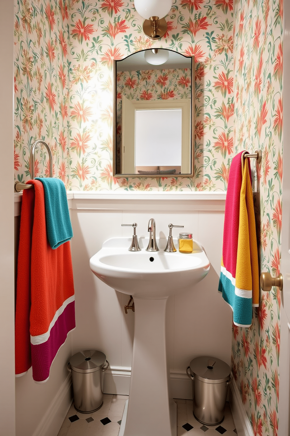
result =
[{"label": "round metal lid of the trash can right of the pedestal", "polygon": [[214,357],[197,357],[190,362],[190,373],[205,383],[222,383],[230,377],[230,367]]}]

